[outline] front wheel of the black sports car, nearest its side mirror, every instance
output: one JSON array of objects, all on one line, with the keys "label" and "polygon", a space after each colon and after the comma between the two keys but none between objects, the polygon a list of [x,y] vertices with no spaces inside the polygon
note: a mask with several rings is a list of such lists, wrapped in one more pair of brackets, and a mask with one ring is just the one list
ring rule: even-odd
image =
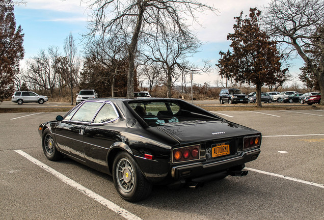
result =
[{"label": "front wheel of the black sports car, nearest its side mirror", "polygon": [[63,155],[56,148],[55,141],[53,140],[52,134],[48,129],[46,129],[43,133],[42,147],[47,159],[56,161],[63,158]]}]

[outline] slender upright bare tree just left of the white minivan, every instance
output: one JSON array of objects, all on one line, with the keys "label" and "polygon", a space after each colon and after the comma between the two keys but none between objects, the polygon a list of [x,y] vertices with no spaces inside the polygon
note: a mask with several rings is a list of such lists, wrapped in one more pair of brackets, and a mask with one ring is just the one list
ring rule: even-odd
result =
[{"label": "slender upright bare tree just left of the white minivan", "polygon": [[80,69],[80,60],[77,57],[77,47],[75,39],[70,33],[64,41],[64,53],[66,56],[66,82],[71,90],[71,105],[73,105],[73,88],[78,85],[78,73]]}]

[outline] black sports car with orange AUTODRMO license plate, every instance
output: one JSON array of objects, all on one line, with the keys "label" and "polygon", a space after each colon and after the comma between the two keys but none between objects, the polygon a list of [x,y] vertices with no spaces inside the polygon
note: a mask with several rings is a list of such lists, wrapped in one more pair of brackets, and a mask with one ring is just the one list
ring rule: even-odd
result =
[{"label": "black sports car with orange AUTODRMO license plate", "polygon": [[153,184],[247,175],[261,144],[256,130],[166,98],[87,100],[38,130],[49,160],[66,155],[112,175],[127,201],[145,199]]}]

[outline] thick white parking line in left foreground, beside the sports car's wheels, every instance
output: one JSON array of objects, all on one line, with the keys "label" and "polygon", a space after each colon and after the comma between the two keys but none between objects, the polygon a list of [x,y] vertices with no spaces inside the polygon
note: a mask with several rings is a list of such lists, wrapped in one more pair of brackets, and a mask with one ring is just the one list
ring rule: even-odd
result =
[{"label": "thick white parking line in left foreground, beside the sports car's wheels", "polygon": [[32,161],[33,163],[35,163],[37,166],[44,169],[48,173],[56,176],[62,182],[76,188],[78,191],[80,191],[81,193],[83,193],[83,194],[87,195],[88,197],[94,199],[95,201],[99,202],[101,205],[113,210],[114,212],[121,215],[122,217],[124,217],[126,219],[129,219],[129,220],[134,220],[134,219],[139,220],[139,219],[141,219],[140,217],[130,213],[126,209],[121,208],[120,206],[116,205],[115,203],[111,202],[110,200],[107,200],[107,199],[103,198],[102,196],[94,193],[93,191],[91,191],[90,189],[84,187],[83,185],[80,185],[79,183],[75,182],[74,180],[71,180],[70,178],[64,176],[63,174],[57,172],[56,170],[48,167],[46,164],[44,164],[41,161],[35,159],[34,157],[30,156],[29,154],[27,154],[27,153],[25,153],[25,152],[23,152],[21,150],[15,150],[15,152],[17,152],[21,156],[25,157],[26,159]]}]

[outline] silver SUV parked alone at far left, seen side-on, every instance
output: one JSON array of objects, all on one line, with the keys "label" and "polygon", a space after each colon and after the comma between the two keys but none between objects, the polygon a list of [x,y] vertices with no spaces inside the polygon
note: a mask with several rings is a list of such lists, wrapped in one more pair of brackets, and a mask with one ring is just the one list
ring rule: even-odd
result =
[{"label": "silver SUV parked alone at far left, seen side-on", "polygon": [[48,101],[48,98],[47,96],[38,95],[34,92],[18,91],[12,95],[11,101],[18,104],[24,102],[38,102],[39,104],[44,104],[44,102]]}]

